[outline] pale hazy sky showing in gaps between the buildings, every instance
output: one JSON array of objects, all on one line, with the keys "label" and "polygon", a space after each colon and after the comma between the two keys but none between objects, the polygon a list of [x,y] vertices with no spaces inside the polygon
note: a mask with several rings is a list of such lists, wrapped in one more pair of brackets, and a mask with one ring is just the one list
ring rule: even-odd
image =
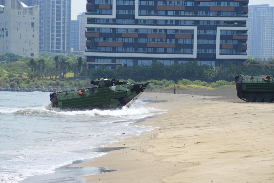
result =
[{"label": "pale hazy sky showing in gaps between the buildings", "polygon": [[[86,0],[71,0],[71,19],[77,20],[77,15],[86,11]],[[249,0],[248,5],[269,4],[274,6],[274,0]]]}]

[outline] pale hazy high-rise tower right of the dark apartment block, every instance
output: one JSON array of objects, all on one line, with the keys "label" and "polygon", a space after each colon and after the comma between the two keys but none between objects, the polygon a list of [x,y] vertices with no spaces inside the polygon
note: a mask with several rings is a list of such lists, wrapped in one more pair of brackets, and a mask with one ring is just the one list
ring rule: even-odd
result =
[{"label": "pale hazy high-rise tower right of the dark apartment block", "polygon": [[248,6],[249,31],[247,54],[259,58],[274,57],[274,7]]}]

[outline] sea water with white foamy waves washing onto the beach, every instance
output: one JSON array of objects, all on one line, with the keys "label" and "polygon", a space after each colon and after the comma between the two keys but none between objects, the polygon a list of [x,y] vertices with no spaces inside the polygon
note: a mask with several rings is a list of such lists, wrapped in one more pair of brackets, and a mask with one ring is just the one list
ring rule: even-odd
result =
[{"label": "sea water with white foamy waves washing onto the beach", "polygon": [[105,152],[78,151],[152,130],[134,123],[160,111],[147,101],[116,110],[50,110],[48,92],[0,92],[0,182],[16,183],[103,156]]}]

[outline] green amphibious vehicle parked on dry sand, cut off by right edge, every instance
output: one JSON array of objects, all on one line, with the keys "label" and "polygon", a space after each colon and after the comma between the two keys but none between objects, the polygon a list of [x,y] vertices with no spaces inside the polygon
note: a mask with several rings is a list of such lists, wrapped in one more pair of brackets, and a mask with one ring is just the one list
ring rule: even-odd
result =
[{"label": "green amphibious vehicle parked on dry sand, cut off by right edge", "polygon": [[237,96],[246,102],[273,102],[274,76],[235,77]]}]

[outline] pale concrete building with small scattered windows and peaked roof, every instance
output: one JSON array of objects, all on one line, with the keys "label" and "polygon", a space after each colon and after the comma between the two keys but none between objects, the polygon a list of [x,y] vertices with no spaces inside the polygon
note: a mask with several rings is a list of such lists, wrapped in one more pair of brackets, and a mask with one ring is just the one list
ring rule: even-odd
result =
[{"label": "pale concrete building with small scattered windows and peaked roof", "polygon": [[0,55],[38,57],[38,6],[28,7],[19,0],[7,0],[5,6],[0,6],[0,31]]}]

